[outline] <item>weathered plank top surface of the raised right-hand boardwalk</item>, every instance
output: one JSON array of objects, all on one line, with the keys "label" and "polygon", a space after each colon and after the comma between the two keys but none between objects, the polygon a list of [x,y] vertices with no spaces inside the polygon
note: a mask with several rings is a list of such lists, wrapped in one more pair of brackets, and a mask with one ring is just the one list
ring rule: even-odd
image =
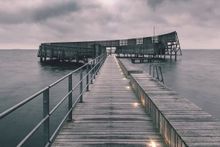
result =
[{"label": "weathered plank top surface of the raised right-hand boardwalk", "polygon": [[[132,69],[128,60],[124,68]],[[189,147],[220,147],[220,121],[147,73],[131,74]]]}]

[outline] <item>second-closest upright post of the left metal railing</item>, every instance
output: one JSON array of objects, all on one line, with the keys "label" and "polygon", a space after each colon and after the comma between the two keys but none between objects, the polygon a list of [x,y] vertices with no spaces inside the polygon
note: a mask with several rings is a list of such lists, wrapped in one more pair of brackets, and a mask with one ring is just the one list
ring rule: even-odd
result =
[{"label": "second-closest upright post of the left metal railing", "polygon": [[[72,74],[69,75],[68,77],[68,92],[72,91],[73,89],[73,85],[72,85]],[[69,98],[68,98],[68,110],[72,109],[72,105],[73,105],[73,92],[71,92],[69,94]],[[72,111],[70,112],[69,116],[68,116],[68,121],[72,121]]]}]

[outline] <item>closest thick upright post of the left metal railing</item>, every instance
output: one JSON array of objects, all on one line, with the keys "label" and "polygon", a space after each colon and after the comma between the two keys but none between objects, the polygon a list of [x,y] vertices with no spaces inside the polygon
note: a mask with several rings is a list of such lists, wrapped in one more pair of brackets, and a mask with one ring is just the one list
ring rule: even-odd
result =
[{"label": "closest thick upright post of the left metal railing", "polygon": [[[49,116],[49,103],[50,95],[49,95],[49,87],[43,92],[43,117]],[[50,118],[44,122],[44,144],[46,145],[50,140]]]}]

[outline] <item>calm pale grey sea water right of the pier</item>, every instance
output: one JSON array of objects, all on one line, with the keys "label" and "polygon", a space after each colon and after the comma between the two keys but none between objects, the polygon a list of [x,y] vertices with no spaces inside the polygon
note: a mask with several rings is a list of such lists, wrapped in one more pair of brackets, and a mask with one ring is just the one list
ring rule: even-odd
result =
[{"label": "calm pale grey sea water right of the pier", "polygon": [[[162,63],[165,85],[220,119],[220,50],[183,50],[177,62]],[[148,64],[135,64],[146,72]]]}]

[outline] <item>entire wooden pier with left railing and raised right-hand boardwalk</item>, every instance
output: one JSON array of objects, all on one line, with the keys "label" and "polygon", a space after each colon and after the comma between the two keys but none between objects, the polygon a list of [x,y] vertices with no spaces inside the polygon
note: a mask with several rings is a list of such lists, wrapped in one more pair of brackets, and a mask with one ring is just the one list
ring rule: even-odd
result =
[{"label": "entire wooden pier with left railing and raised right-hand boardwalk", "polygon": [[[76,73],[80,78],[73,82]],[[67,91],[51,107],[52,89],[60,83]],[[18,136],[18,147],[34,146],[31,138],[40,128],[37,141],[46,147],[220,146],[220,120],[114,55],[96,57],[0,113],[0,120],[36,98],[42,99],[43,117],[25,137]],[[51,118],[58,109],[66,112],[54,130]]]}]

